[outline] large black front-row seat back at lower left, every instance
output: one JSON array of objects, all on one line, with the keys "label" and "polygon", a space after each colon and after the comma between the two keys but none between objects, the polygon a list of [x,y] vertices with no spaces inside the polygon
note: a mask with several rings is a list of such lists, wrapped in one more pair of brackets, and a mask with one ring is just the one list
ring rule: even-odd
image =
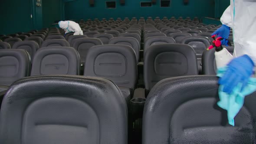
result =
[{"label": "large black front-row seat back at lower left", "polygon": [[1,144],[128,142],[125,100],[107,79],[36,76],[10,89],[0,112]]}]

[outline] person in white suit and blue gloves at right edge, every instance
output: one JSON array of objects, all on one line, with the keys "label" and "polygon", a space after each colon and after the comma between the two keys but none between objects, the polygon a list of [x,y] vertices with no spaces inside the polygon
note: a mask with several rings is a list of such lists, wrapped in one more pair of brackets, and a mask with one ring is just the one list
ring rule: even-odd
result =
[{"label": "person in white suit and blue gloves at right edge", "polygon": [[228,69],[219,84],[223,92],[231,93],[238,84],[243,87],[248,82],[256,64],[256,0],[230,0],[230,6],[223,13],[220,21],[223,24],[213,35],[223,37],[222,45],[233,28],[234,53],[227,65]]}]

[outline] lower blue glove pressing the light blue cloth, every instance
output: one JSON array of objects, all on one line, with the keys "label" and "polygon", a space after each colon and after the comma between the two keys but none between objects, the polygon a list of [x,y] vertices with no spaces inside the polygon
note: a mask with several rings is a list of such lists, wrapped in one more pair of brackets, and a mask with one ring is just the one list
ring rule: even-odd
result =
[{"label": "lower blue glove pressing the light blue cloth", "polygon": [[237,57],[227,65],[228,69],[219,79],[219,84],[223,85],[223,92],[230,94],[233,88],[238,84],[242,84],[242,89],[253,74],[254,63],[248,55]]}]

